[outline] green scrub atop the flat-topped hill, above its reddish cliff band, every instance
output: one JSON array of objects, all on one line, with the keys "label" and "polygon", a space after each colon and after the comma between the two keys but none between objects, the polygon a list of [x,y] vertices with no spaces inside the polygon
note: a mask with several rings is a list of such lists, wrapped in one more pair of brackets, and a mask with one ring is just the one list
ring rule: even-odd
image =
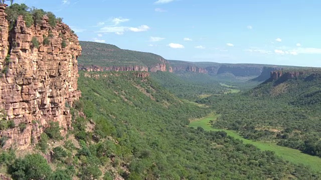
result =
[{"label": "green scrub atop the flat-topped hill, above its reddish cliff band", "polygon": [[82,55],[80,65],[109,66],[154,66],[163,63],[160,55],[149,52],[121,49],[115,45],[99,42],[80,41]]}]

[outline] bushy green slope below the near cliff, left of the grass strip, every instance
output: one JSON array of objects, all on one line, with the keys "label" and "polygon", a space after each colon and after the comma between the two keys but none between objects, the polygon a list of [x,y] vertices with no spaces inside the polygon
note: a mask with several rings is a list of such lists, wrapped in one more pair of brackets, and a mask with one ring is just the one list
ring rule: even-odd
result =
[{"label": "bushy green slope below the near cliff, left of the grass strip", "polygon": [[[187,127],[189,119],[210,109],[181,101],[152,79],[129,72],[95,79],[82,72],[79,88],[83,97],[72,108],[74,130],[67,136],[79,144],[65,140],[51,147],[55,171],[41,155],[15,158],[12,151],[2,152],[1,162],[14,179],[110,179],[114,171],[125,179],[319,178],[223,131]],[[52,125],[45,134],[59,142],[57,130]]]}]

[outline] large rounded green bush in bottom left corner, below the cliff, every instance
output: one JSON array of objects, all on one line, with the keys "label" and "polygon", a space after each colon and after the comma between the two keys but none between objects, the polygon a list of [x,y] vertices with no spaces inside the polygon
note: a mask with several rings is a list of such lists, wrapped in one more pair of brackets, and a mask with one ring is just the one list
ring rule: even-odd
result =
[{"label": "large rounded green bush in bottom left corner, below the cliff", "polygon": [[40,154],[29,154],[16,159],[9,167],[14,179],[45,179],[52,173],[47,160]]}]

